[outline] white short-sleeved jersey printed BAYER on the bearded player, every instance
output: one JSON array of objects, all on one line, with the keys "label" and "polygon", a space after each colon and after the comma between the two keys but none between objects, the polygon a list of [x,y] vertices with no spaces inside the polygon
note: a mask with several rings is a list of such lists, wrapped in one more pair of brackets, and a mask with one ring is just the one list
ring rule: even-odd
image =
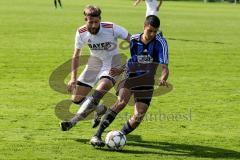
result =
[{"label": "white short-sleeved jersey printed BAYER on the bearded player", "polygon": [[75,37],[75,48],[82,48],[86,43],[90,49],[90,54],[102,60],[118,54],[117,39],[126,39],[128,31],[116,24],[101,22],[100,30],[96,35],[87,31],[86,26],[77,30]]}]

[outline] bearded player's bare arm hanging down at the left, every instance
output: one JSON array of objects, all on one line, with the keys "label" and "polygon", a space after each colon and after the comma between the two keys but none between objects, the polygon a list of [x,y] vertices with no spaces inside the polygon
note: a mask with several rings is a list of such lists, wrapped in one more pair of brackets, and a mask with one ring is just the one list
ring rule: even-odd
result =
[{"label": "bearded player's bare arm hanging down at the left", "polygon": [[79,67],[79,57],[81,49],[75,48],[72,56],[71,79],[68,82],[68,91],[72,92],[77,85],[77,69]]}]

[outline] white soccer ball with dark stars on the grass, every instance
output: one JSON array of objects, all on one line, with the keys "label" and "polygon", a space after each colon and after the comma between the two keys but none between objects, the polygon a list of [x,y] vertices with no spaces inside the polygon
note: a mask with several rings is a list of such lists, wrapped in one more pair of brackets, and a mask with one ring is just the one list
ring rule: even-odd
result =
[{"label": "white soccer ball with dark stars on the grass", "polygon": [[108,132],[105,143],[110,150],[122,150],[126,144],[126,137],[120,131]]}]

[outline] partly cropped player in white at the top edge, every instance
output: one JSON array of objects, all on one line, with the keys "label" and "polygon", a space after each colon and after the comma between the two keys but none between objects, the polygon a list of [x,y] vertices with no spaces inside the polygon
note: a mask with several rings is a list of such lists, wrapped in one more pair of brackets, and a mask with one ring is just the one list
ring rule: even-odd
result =
[{"label": "partly cropped player in white at the top edge", "polygon": [[[141,0],[136,0],[134,3],[134,6],[138,5],[141,2]],[[163,0],[160,0],[159,3],[157,0],[145,0],[147,10],[146,10],[146,17],[149,15],[155,15],[157,16],[159,8],[162,5]]]}]

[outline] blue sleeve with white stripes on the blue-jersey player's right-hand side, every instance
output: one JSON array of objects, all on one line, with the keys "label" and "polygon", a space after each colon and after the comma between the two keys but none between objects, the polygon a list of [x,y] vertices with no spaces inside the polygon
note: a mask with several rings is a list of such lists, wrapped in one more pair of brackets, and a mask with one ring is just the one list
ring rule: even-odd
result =
[{"label": "blue sleeve with white stripes on the blue-jersey player's right-hand side", "polygon": [[158,39],[158,61],[160,64],[168,64],[168,44],[164,38]]}]

